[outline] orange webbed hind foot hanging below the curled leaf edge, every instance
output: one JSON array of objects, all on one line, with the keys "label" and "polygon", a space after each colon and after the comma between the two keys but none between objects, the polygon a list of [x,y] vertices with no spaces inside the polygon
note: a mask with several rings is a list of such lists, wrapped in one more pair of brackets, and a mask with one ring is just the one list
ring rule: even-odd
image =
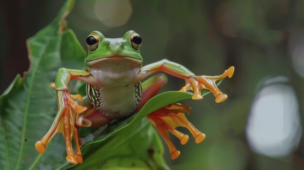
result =
[{"label": "orange webbed hind foot hanging below the curled leaf edge", "polygon": [[180,151],[175,148],[174,144],[169,138],[168,132],[171,132],[174,136],[176,136],[183,145],[186,144],[189,139],[188,135],[176,130],[176,127],[186,127],[195,138],[196,143],[200,143],[205,139],[205,134],[200,132],[187,120],[185,112],[189,113],[189,110],[190,108],[186,105],[174,103],[164,108],[160,108],[148,115],[148,119],[152,122],[167,143],[169,152],[171,154],[171,159],[176,159],[180,155]]}]

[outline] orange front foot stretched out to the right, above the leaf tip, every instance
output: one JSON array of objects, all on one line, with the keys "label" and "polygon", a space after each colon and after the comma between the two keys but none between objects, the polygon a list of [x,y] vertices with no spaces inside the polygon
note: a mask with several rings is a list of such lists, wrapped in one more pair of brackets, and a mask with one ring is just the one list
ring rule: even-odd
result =
[{"label": "orange front foot stretched out to the right, above the leaf tip", "polygon": [[210,90],[215,98],[215,102],[220,103],[227,99],[227,95],[222,93],[216,85],[216,81],[229,77],[231,78],[234,74],[235,67],[231,66],[224,71],[220,76],[193,76],[186,78],[186,85],[182,87],[180,92],[186,92],[192,90],[194,92],[192,99],[200,100],[203,99],[201,91],[203,89]]}]

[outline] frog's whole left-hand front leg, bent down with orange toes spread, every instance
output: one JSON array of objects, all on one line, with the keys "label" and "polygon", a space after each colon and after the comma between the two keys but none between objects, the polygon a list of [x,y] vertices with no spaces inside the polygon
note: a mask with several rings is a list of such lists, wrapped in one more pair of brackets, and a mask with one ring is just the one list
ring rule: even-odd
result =
[{"label": "frog's whole left-hand front leg, bent down with orange toes spread", "polygon": [[[75,140],[78,139],[77,131],[75,131],[77,130],[75,128],[75,121],[78,119],[79,114],[84,112],[87,108],[81,106],[81,95],[72,95],[68,93],[68,83],[71,79],[78,79],[92,84],[97,83],[94,77],[86,71],[65,68],[58,70],[55,79],[58,112],[50,130],[41,140],[36,142],[35,148],[40,154],[43,154],[52,137],[56,133],[62,133],[67,146],[67,160],[72,164],[77,164],[82,162],[79,144],[76,142],[77,155],[75,156],[71,141],[73,136]],[[76,99],[80,101],[80,105],[75,102]]]}]

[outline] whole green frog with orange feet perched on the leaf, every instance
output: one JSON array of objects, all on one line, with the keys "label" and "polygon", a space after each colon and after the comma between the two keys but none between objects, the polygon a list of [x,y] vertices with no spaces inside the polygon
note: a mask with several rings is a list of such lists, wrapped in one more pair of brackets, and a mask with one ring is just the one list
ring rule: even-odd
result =
[{"label": "whole green frog with orange feet perched on the leaf", "polygon": [[[166,74],[185,80],[185,86],[179,91],[192,91],[193,100],[203,99],[202,90],[211,91],[216,103],[227,99],[216,82],[224,77],[232,77],[234,66],[219,76],[196,76],[185,66],[167,59],[143,66],[141,45],[142,38],[135,31],[127,31],[121,38],[106,38],[100,31],[92,31],[87,36],[84,57],[86,70],[60,68],[52,84],[56,91],[58,111],[50,130],[35,143],[38,153],[43,154],[52,137],[62,133],[67,161],[71,164],[83,163],[78,128],[102,126],[135,114],[167,84]],[[82,95],[69,93],[68,84],[72,79],[86,83],[86,102]],[[142,81],[145,82],[144,86]],[[169,139],[168,132],[180,139],[181,144],[186,144],[189,139],[176,127],[186,127],[196,143],[205,139],[205,135],[187,120],[185,113],[189,109],[187,105],[172,103],[148,115],[148,120],[167,143],[172,159],[176,159],[180,151]],[[76,153],[71,144],[73,138]]]}]

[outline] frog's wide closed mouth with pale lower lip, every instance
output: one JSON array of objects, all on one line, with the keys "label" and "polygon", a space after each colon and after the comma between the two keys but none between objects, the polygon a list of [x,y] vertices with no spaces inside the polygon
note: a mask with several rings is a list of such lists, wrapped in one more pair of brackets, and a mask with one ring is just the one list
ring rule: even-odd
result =
[{"label": "frog's wide closed mouth with pale lower lip", "polygon": [[124,62],[124,61],[128,61],[128,62],[134,62],[136,65],[139,65],[142,61],[132,58],[132,57],[118,57],[118,56],[114,56],[114,57],[103,57],[101,59],[96,59],[96,60],[91,60],[91,61],[87,61],[86,63],[90,66],[96,65],[96,64],[100,64],[102,62]]}]

